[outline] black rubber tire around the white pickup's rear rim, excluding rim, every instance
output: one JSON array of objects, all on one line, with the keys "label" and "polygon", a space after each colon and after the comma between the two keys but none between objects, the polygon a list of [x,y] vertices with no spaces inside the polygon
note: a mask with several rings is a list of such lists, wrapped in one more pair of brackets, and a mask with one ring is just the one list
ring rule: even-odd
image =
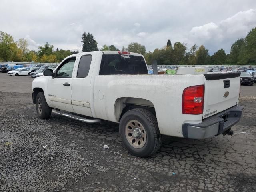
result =
[{"label": "black rubber tire around the white pickup's rear rim, excluding rim", "polygon": [[[141,148],[132,146],[126,136],[127,125],[133,120],[140,122],[146,131],[146,142]],[[137,108],[126,112],[120,120],[119,133],[127,150],[138,157],[148,157],[154,154],[162,144],[162,135],[159,132],[156,117],[146,109]]]}]

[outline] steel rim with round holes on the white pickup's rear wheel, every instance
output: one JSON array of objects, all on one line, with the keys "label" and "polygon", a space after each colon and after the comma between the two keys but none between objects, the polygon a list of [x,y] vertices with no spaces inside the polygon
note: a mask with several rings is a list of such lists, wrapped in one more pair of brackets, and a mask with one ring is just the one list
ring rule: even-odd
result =
[{"label": "steel rim with round holes on the white pickup's rear wheel", "polygon": [[147,134],[144,126],[138,120],[130,120],[125,126],[125,137],[134,148],[142,148],[146,144]]}]

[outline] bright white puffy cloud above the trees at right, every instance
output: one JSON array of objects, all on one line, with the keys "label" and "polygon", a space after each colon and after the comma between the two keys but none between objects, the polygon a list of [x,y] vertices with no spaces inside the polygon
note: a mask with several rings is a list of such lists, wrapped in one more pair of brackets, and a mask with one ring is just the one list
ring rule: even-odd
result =
[{"label": "bright white puffy cloud above the trees at right", "polygon": [[[216,52],[224,48],[226,52],[234,41],[244,38],[252,28],[256,27],[256,9],[240,11],[219,22],[210,22],[193,27],[189,32],[191,44],[204,44]],[[190,44],[190,45],[191,45]]]}]

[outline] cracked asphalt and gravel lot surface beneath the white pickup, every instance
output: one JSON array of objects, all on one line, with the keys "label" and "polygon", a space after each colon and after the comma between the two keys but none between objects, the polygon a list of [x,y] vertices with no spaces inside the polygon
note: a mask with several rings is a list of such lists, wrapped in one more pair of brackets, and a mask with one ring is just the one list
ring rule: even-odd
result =
[{"label": "cracked asphalt and gravel lot surface beneath the white pickup", "polygon": [[256,85],[241,87],[245,109],[233,136],[165,136],[156,154],[137,158],[124,148],[118,124],[85,124],[54,114],[40,120],[31,79],[0,73],[2,192],[256,191]]}]

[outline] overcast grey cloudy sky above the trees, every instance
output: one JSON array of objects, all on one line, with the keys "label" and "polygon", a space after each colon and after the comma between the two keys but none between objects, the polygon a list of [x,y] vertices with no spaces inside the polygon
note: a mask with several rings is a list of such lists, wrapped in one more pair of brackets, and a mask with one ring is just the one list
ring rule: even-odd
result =
[{"label": "overcast grey cloudy sky above the trees", "polygon": [[30,50],[81,50],[90,32],[99,48],[138,42],[153,51],[170,39],[213,54],[256,27],[256,0],[1,0],[0,14],[0,30],[28,39]]}]

